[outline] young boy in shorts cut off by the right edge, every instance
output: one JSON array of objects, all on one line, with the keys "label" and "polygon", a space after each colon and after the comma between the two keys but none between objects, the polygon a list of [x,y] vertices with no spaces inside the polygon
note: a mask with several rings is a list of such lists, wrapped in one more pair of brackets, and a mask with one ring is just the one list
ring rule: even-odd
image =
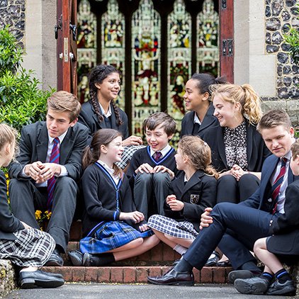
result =
[{"label": "young boy in shorts cut off by the right edge", "polygon": [[[299,175],[299,140],[291,147],[290,169]],[[295,295],[295,285],[281,262],[293,264],[299,255],[299,181],[286,189],[284,214],[271,223],[271,236],[254,243],[254,253],[265,265],[259,277],[236,279],[235,288],[242,294]]]}]

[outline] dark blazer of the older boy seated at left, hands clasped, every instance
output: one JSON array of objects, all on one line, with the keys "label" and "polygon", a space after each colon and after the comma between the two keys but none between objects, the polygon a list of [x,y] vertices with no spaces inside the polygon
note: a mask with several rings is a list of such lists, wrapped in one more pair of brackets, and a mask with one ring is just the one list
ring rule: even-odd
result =
[{"label": "dark blazer of the older boy seated at left, hands clasped", "polygon": [[[76,123],[67,130],[60,145],[60,164],[64,165],[69,177],[79,181],[81,176],[81,154],[87,145],[89,131],[85,125]],[[45,121],[26,125],[21,131],[20,154],[17,162],[9,165],[9,176],[14,179],[26,179],[21,176],[26,164],[36,161],[45,163],[47,158],[48,134]],[[30,178],[28,178],[30,179]]]}]

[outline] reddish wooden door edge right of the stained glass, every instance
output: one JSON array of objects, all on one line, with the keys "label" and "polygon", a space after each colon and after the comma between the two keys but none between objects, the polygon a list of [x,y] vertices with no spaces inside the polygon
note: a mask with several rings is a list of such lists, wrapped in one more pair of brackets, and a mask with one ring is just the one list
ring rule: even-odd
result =
[{"label": "reddish wooden door edge right of the stained glass", "polygon": [[219,0],[220,76],[234,83],[234,0]]}]

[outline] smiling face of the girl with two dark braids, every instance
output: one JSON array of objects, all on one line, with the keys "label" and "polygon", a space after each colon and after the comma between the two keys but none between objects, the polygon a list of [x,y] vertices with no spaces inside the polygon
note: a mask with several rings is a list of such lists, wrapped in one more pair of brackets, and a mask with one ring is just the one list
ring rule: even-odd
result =
[{"label": "smiling face of the girl with two dark braids", "polygon": [[108,74],[102,83],[95,85],[99,101],[112,101],[118,97],[120,91],[120,75],[118,73]]}]

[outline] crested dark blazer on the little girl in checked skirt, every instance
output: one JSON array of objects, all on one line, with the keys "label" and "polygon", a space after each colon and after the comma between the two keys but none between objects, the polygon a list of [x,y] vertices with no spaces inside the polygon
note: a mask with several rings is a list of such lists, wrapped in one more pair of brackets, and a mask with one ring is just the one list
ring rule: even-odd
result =
[{"label": "crested dark blazer on the little girl in checked skirt", "polygon": [[189,221],[199,232],[201,214],[205,208],[213,207],[216,204],[217,180],[214,176],[208,176],[203,171],[196,171],[193,176],[184,184],[184,172],[171,181],[169,195],[174,194],[177,199],[184,202],[184,209],[172,211],[164,201],[165,216],[177,221]]}]

